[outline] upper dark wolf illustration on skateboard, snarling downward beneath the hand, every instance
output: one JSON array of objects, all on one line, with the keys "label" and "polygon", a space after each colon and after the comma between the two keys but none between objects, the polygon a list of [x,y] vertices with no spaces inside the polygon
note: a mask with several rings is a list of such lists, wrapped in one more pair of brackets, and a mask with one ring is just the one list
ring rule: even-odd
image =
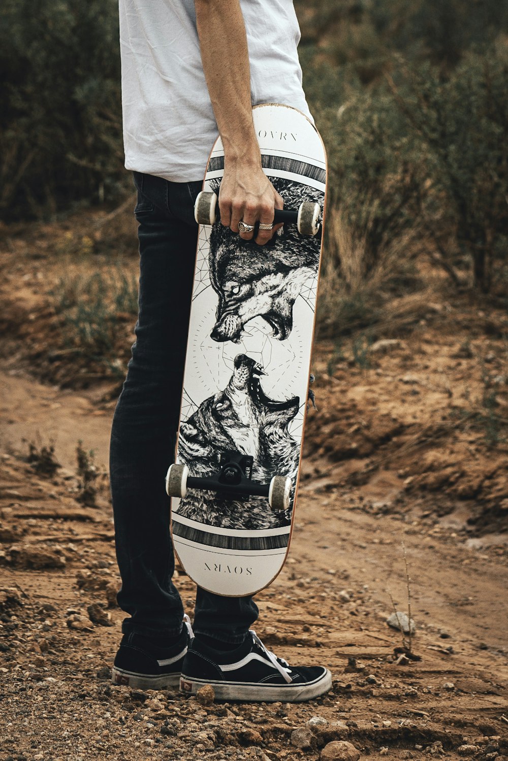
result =
[{"label": "upper dark wolf illustration on skateboard, snarling downward beneath the hand", "polygon": [[[324,195],[319,190],[277,177],[270,179],[286,209],[297,209],[302,201],[323,205]],[[215,224],[209,244],[210,279],[219,295],[212,339],[238,342],[245,324],[254,317],[263,317],[276,339],[286,339],[302,285],[318,272],[319,236],[302,237],[291,224],[285,225],[283,234],[274,236],[270,244],[257,246]]]}]

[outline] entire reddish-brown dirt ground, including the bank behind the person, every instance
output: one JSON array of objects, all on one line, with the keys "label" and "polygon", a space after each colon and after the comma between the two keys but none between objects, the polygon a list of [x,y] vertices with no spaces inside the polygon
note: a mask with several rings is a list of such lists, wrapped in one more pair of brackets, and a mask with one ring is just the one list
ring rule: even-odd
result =
[{"label": "entire reddish-brown dirt ground, including the bank behind the person", "polygon": [[[254,628],[289,663],[326,664],[333,690],[201,705],[110,683],[123,613],[104,471],[118,379],[83,377],[62,353],[54,240],[11,231],[0,247],[0,759],[315,761],[348,740],[373,758],[506,761],[506,314],[435,288],[411,330],[360,353],[318,344],[291,551],[257,595]],[[91,256],[73,266],[107,266]],[[125,316],[119,331],[128,344]],[[78,440],[95,453],[95,495]],[[193,583],[182,570],[176,583],[192,616]],[[407,639],[386,619],[407,612],[408,587],[417,632],[400,658]]]}]

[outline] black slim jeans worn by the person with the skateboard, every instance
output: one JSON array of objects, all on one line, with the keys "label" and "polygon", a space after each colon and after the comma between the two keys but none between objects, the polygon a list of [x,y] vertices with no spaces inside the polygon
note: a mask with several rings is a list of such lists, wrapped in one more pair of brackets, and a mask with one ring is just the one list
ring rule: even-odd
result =
[{"label": "black slim jeans worn by the person with the skateboard", "polygon": [[[127,377],[113,417],[110,478],[118,604],[130,614],[122,631],[174,636],[184,609],[171,578],[165,474],[173,462],[180,415],[190,297],[196,257],[193,203],[201,182],[169,183],[134,174],[138,190],[139,317]],[[251,597],[219,597],[198,587],[196,635],[242,642],[257,606]]]}]

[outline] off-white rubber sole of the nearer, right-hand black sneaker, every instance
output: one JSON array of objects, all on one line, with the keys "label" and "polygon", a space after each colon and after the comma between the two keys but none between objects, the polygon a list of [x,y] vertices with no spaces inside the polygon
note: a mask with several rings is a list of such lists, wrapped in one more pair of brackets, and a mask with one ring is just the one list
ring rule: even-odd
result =
[{"label": "off-white rubber sole of the nearer, right-hand black sneaker", "polygon": [[216,700],[241,700],[245,702],[298,703],[312,700],[331,689],[331,673],[326,670],[315,682],[306,684],[253,684],[251,682],[215,682],[181,675],[180,689],[187,695],[196,695],[200,687],[213,687]]}]

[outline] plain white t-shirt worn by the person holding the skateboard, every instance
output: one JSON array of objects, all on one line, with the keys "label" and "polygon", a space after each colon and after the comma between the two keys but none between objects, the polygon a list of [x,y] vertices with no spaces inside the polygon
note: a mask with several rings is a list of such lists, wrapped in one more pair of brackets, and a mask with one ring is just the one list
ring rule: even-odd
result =
[{"label": "plain white t-shirt worn by the person holding the skateboard", "polygon": [[[292,0],[240,0],[251,100],[310,116]],[[120,0],[126,168],[173,182],[203,179],[218,130],[201,62],[194,0]]]}]

